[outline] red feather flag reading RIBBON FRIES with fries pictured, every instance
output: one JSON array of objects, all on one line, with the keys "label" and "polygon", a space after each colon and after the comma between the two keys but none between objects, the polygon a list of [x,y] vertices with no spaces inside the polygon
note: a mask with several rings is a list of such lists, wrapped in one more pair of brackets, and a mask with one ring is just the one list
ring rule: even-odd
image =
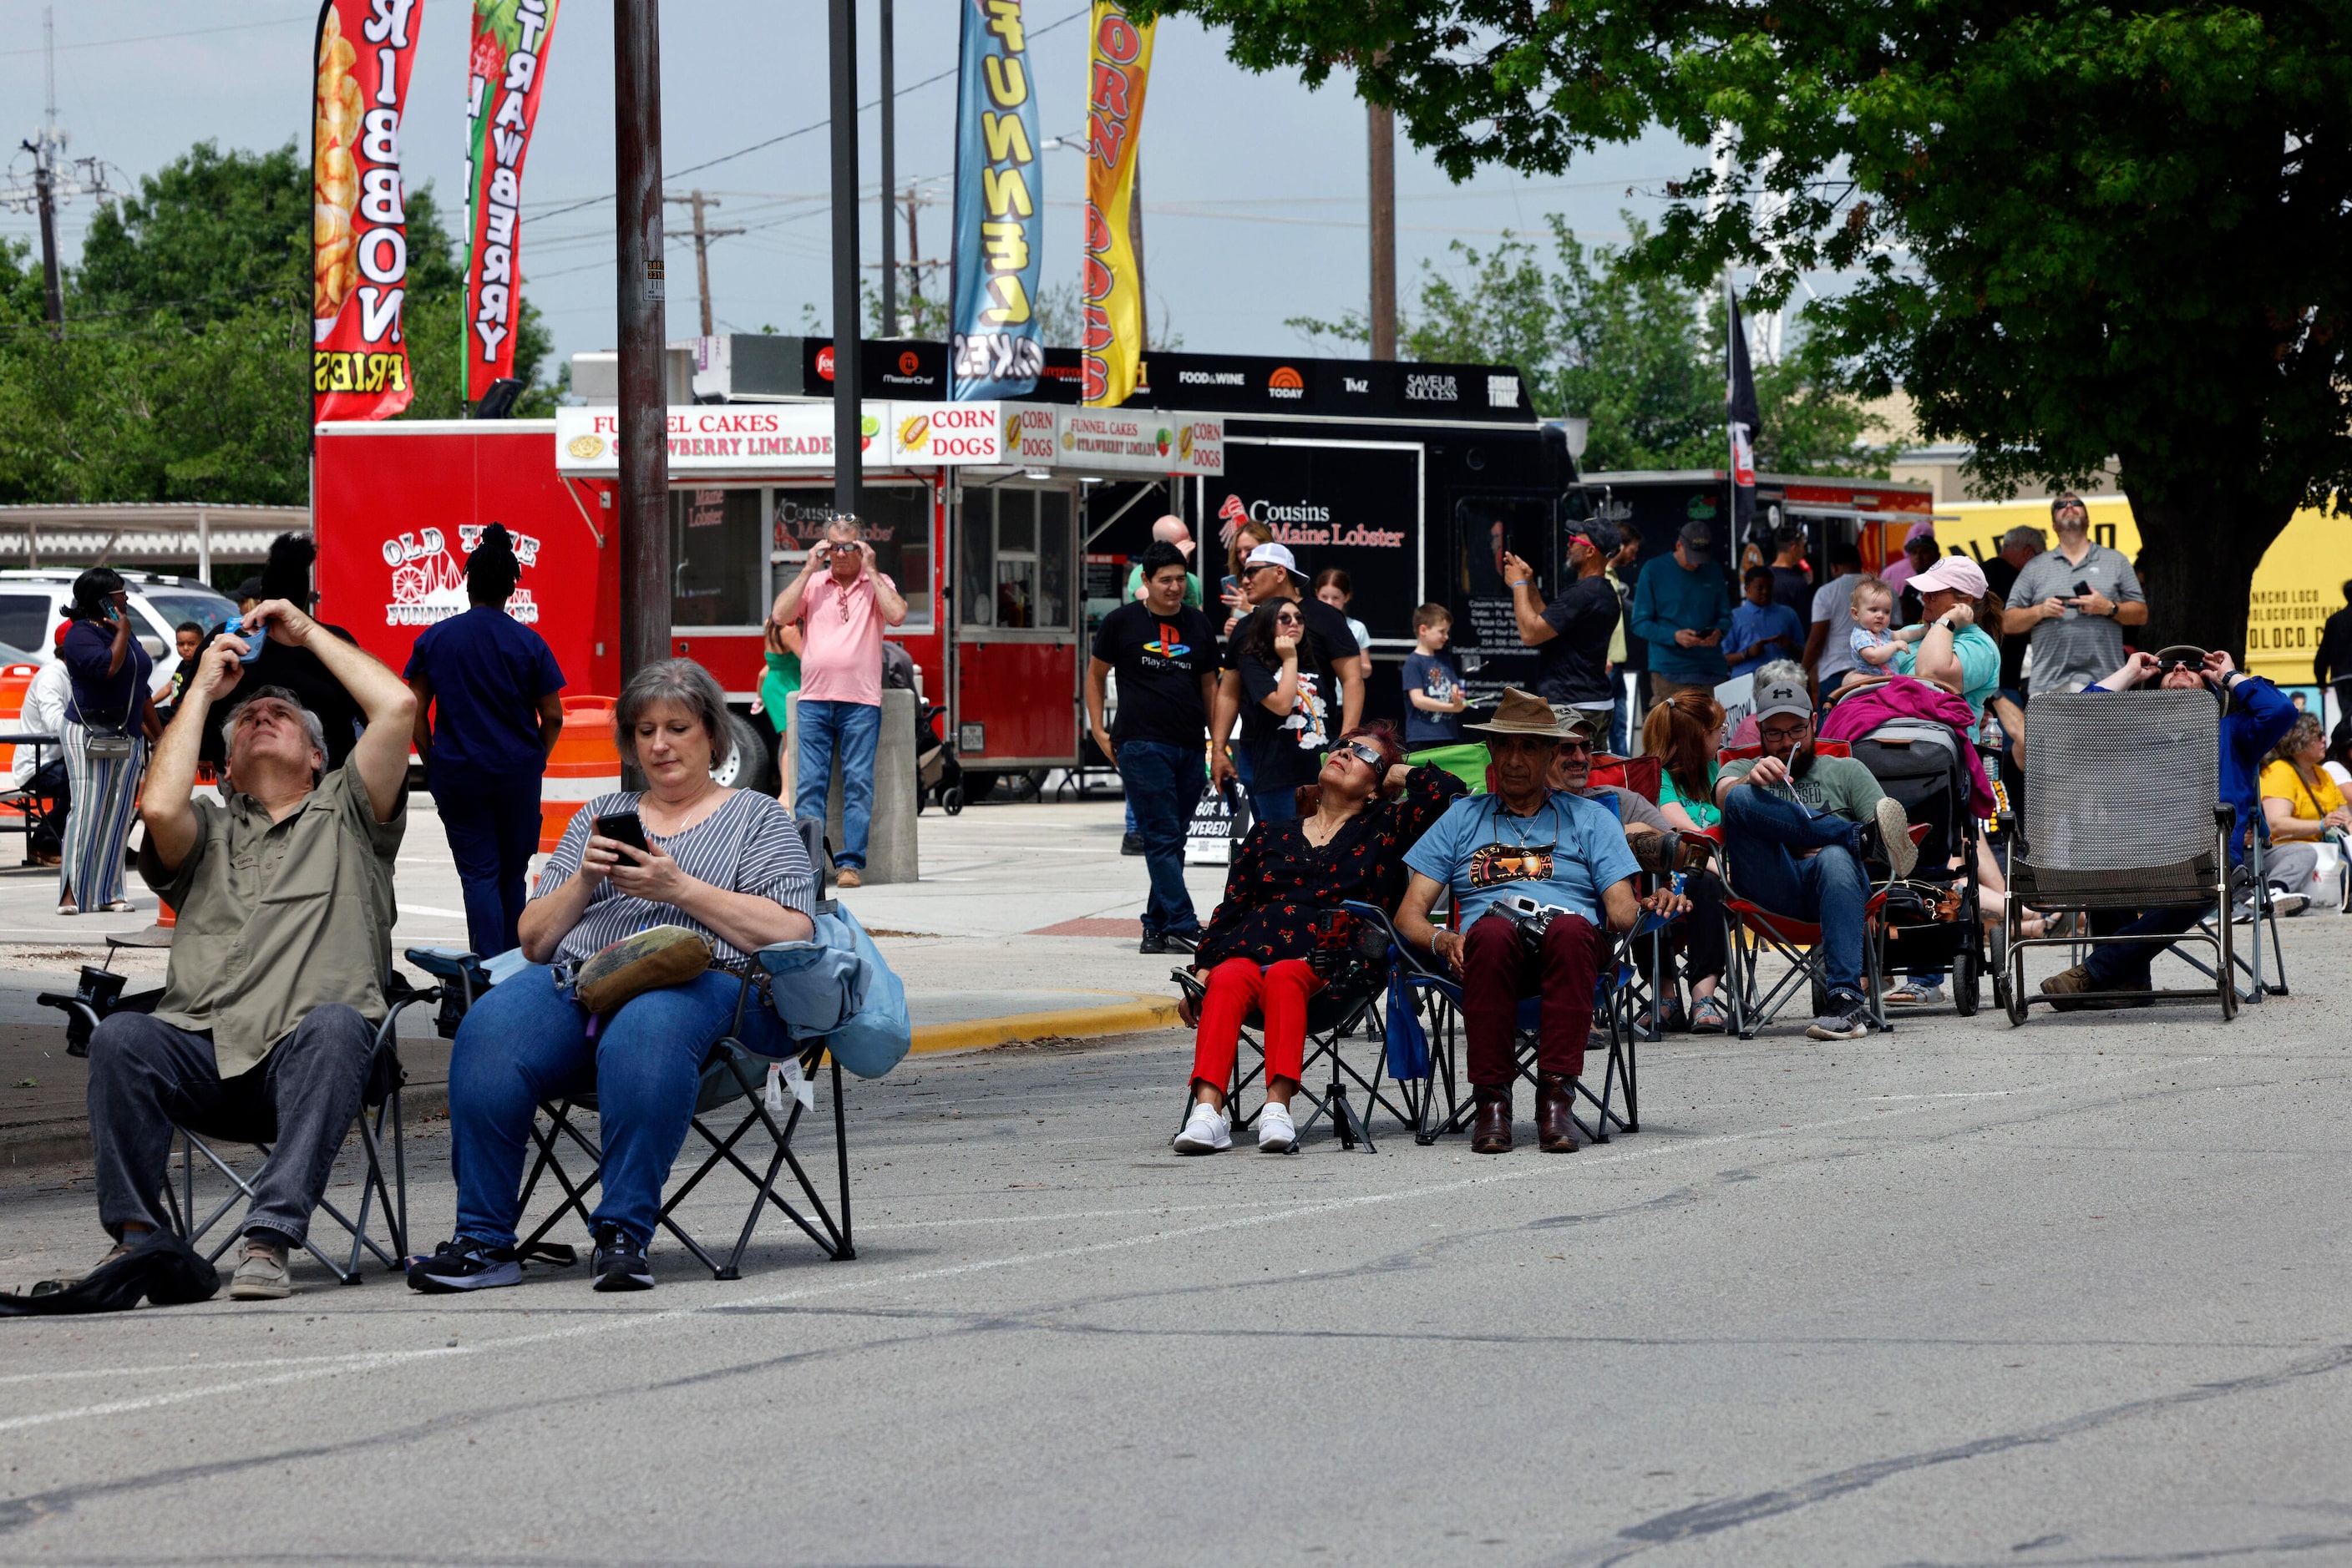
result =
[{"label": "red feather flag reading RIBBON FRIES with fries pictured", "polygon": [[310,416],[390,418],[409,407],[400,303],[409,282],[400,115],[419,0],[327,0],[310,122]]}]

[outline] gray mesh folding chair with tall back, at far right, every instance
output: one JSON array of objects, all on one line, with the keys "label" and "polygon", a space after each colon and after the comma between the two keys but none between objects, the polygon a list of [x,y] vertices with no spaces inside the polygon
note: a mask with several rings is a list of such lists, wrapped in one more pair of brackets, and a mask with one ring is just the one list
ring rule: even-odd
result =
[{"label": "gray mesh folding chair with tall back, at far right", "polygon": [[[2100,943],[2213,947],[2211,987],[2072,992],[2063,1001],[2220,1001],[2237,1016],[2230,983],[2230,832],[2220,804],[2220,705],[2209,691],[2037,693],[2025,748],[2025,802],[2009,851],[2002,924],[2006,966],[1994,992],[2011,1025],[2034,1001],[2025,987],[2027,947],[2077,938],[2023,933],[2027,905],[2072,910],[2199,910],[2178,936],[2105,936]],[[2204,969],[2197,964],[2197,969]]]}]

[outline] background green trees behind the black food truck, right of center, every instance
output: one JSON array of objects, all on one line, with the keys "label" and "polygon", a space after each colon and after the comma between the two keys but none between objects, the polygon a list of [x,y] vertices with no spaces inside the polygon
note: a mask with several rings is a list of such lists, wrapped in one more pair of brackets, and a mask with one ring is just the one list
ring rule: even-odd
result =
[{"label": "background green trees behind the black food truck, right of center", "polygon": [[[1536,414],[1592,421],[1583,468],[1722,468],[1724,310],[1703,310],[1696,289],[1635,266],[1649,230],[1632,216],[1628,247],[1585,247],[1555,214],[1552,256],[1505,235],[1491,252],[1454,242],[1458,273],[1423,263],[1421,296],[1399,346],[1411,360],[1512,364]],[[1364,317],[1289,322],[1352,346]],[[1757,367],[1764,435],[1759,461],[1773,473],[1884,473],[1884,454],[1860,444],[1870,416],[1832,386],[1818,334],[1797,322],[1797,348]]]}]

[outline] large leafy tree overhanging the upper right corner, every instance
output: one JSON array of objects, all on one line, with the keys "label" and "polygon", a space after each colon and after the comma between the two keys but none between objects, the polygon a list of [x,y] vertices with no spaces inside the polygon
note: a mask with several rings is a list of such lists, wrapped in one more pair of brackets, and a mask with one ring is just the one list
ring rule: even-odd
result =
[{"label": "large leafy tree overhanging the upper right corner", "polygon": [[2352,52],[2336,5],[1162,0],[1251,68],[1352,68],[1456,179],[1665,127],[1719,158],[1644,263],[1820,310],[1853,390],[1994,489],[2114,456],[2161,639],[2244,646],[2298,505],[2352,484]]}]

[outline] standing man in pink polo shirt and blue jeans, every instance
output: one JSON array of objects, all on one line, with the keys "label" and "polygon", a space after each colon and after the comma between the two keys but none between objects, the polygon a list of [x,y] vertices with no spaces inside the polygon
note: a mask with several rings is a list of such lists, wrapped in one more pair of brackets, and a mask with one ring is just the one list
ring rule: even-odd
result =
[{"label": "standing man in pink polo shirt and blue jeans", "polygon": [[842,846],[835,882],[866,882],[866,832],[875,811],[875,741],[882,736],[882,628],[906,623],[898,585],[875,571],[856,517],[835,517],[809,548],[800,576],[776,595],[771,621],[802,623],[800,788],[793,816],[826,820],[833,757],[842,759]]}]

